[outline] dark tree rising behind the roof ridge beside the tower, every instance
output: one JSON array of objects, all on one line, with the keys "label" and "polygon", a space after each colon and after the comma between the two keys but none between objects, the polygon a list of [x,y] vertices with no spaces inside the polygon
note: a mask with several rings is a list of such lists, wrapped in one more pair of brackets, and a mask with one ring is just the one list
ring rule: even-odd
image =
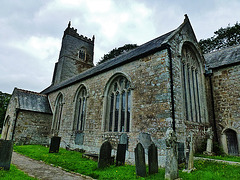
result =
[{"label": "dark tree rising behind the roof ridge beside the tower", "polygon": [[125,44],[122,47],[114,48],[108,54],[104,54],[104,56],[101,58],[101,60],[98,62],[98,64],[102,64],[102,63],[108,61],[109,59],[115,58],[125,52],[135,49],[136,47],[138,47],[137,44]]}]

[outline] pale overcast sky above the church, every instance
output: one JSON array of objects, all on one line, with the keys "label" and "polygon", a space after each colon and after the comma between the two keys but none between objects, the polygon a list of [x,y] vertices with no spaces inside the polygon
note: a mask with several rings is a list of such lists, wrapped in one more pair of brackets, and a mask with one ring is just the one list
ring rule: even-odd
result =
[{"label": "pale overcast sky above the church", "polygon": [[198,40],[240,20],[239,0],[1,0],[0,91],[40,92],[51,84],[63,31],[95,35],[94,63],[124,44],[141,45],[188,14]]}]

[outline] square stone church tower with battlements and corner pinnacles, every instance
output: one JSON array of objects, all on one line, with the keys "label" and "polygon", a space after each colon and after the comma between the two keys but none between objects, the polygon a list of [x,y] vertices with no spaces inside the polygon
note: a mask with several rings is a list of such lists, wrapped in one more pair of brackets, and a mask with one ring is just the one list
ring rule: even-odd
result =
[{"label": "square stone church tower with battlements and corner pinnacles", "polygon": [[62,38],[58,62],[55,64],[52,84],[58,84],[93,67],[94,36],[79,35],[69,22]]}]

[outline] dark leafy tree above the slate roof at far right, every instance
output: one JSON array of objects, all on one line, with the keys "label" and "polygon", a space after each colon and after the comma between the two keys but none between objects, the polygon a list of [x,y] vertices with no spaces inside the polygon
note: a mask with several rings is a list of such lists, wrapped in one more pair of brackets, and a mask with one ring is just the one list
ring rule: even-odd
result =
[{"label": "dark leafy tree above the slate roof at far right", "polygon": [[226,28],[220,28],[214,32],[214,36],[201,39],[199,45],[203,53],[209,53],[225,47],[240,44],[240,23],[234,26],[228,25]]}]

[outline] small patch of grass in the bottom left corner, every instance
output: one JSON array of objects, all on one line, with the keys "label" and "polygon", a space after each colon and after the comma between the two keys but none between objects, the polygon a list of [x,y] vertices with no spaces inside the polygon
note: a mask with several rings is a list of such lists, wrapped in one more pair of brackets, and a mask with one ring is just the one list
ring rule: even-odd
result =
[{"label": "small patch of grass in the bottom left corner", "polygon": [[32,180],[32,179],[35,179],[35,178],[32,178],[32,177],[28,176],[27,174],[24,174],[24,172],[17,169],[16,166],[11,165],[9,171],[5,171],[5,170],[0,169],[0,179],[1,180],[10,180],[10,179]]}]

